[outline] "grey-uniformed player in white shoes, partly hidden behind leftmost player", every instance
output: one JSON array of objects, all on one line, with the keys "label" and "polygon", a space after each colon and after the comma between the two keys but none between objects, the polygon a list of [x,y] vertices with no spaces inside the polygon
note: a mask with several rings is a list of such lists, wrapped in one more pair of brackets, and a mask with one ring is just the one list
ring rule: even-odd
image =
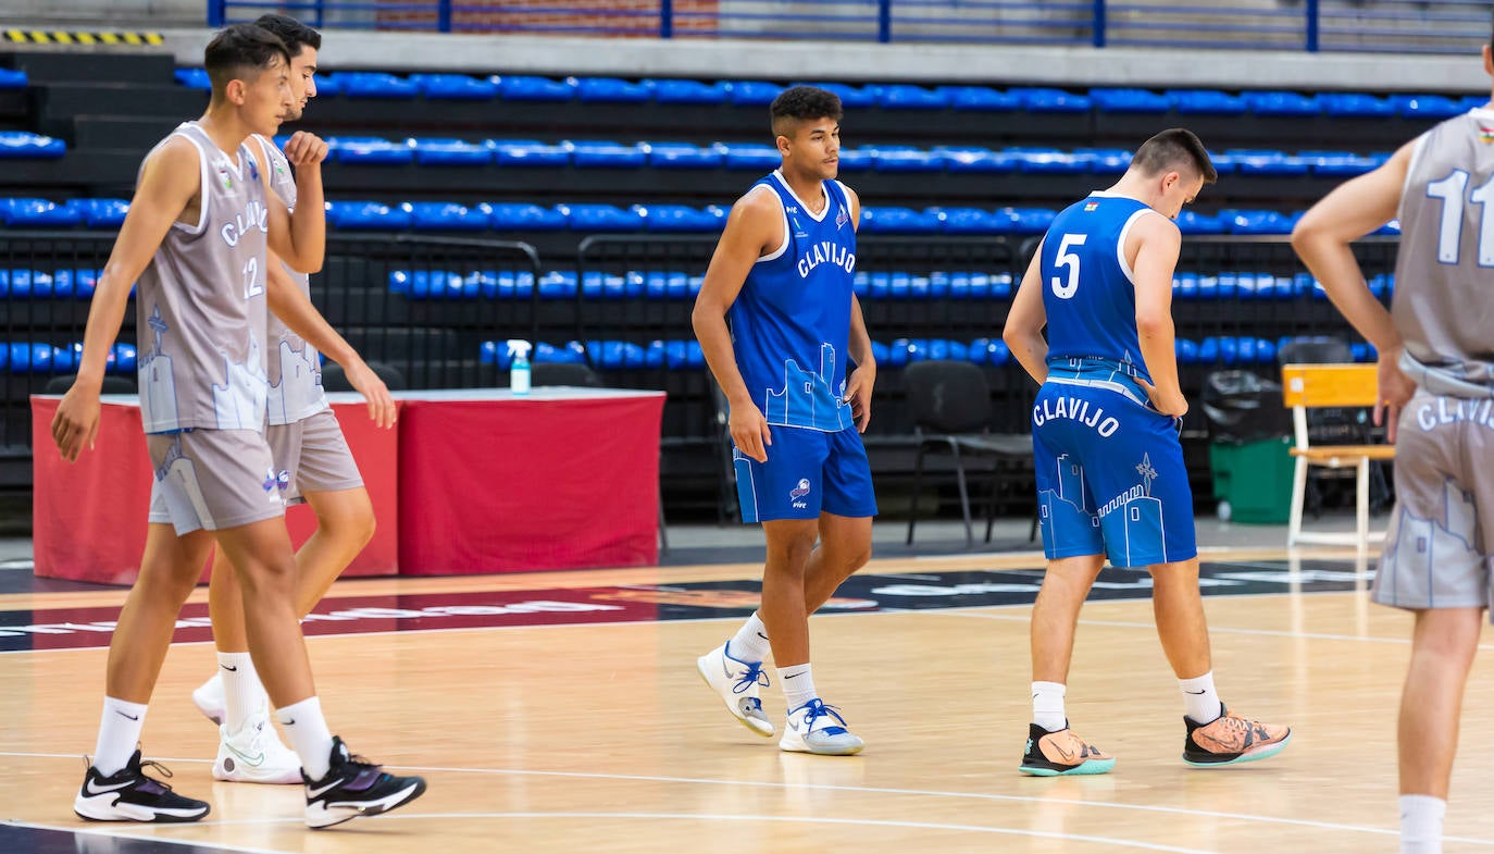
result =
[{"label": "grey-uniformed player in white shoes, partly hidden behind leftmost player", "polygon": [[[291,54],[291,109],[285,121],[302,117],[306,99],[315,97],[314,75],[321,34],[284,15],[264,15],[255,25],[275,33]],[[291,211],[296,178],[273,141],[252,136],[248,145],[266,163],[263,178]],[[269,425],[266,443],[273,458],[278,492],[287,504],[309,503],[317,532],[296,555],[296,615],[305,616],[338,574],[374,535],[374,504],[353,461],[348,443],[321,389],[317,350],[342,365],[353,387],[368,398],[369,416],[379,426],[394,422],[394,401],[384,381],[357,351],[332,329],[311,304],[309,277],[270,254],[267,274]],[[308,342],[297,329],[308,329]],[[218,669],[193,691],[193,703],[220,724],[218,757],[212,776],[230,782],[299,784],[300,761],[285,748],[269,722],[269,703],[254,672],[244,628],[244,601],[233,567],[220,550],[214,556],[209,612]]]}]

